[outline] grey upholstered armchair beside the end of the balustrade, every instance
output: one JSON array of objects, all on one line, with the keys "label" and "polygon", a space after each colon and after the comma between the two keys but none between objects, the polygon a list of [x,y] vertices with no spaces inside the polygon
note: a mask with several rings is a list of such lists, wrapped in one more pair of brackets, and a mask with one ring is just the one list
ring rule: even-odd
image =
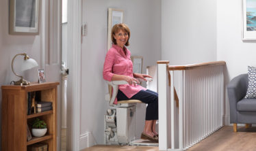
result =
[{"label": "grey upholstered armchair beside the end of the balustrade", "polygon": [[256,99],[245,99],[248,88],[248,74],[238,75],[229,82],[227,93],[229,96],[230,122],[233,131],[237,131],[237,124],[246,124],[246,128],[256,123]]}]

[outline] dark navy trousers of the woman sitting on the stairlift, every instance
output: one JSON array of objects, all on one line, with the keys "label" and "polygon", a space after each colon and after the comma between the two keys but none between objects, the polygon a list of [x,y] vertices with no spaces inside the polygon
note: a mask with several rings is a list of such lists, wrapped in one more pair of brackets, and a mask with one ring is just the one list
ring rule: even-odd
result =
[{"label": "dark navy trousers of the woman sitting on the stairlift", "polygon": [[[118,90],[116,95],[118,101],[128,100],[126,95]],[[152,90],[140,90],[136,95],[130,99],[138,99],[143,103],[148,104],[146,107],[146,120],[158,120],[158,94]]]}]

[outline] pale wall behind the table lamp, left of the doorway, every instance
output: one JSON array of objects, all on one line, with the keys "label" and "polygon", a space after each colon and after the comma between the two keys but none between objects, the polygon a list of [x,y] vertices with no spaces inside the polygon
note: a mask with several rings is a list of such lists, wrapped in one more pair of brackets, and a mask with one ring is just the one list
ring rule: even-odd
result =
[{"label": "pale wall behind the table lamp, left of the doorway", "polygon": [[[41,63],[40,53],[40,36],[36,35],[9,35],[8,33],[8,14],[9,14],[9,1],[0,1],[0,86],[10,84],[12,80],[19,80],[19,78],[12,73],[11,63],[15,54],[27,52],[27,54],[34,58],[38,64]],[[21,63],[23,58],[17,57],[15,61],[15,71],[24,78],[35,82],[38,80],[37,69],[31,69],[24,74],[19,70],[18,64]],[[1,91],[0,91],[1,98]],[[1,102],[0,102],[1,105]],[[1,120],[0,120],[1,121]]]}]

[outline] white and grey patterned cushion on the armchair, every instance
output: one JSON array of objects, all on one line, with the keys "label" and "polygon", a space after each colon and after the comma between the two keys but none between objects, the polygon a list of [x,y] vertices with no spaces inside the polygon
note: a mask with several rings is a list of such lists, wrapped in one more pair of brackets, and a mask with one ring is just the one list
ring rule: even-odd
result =
[{"label": "white and grey patterned cushion on the armchair", "polygon": [[248,89],[244,98],[256,98],[256,67],[248,66]]}]

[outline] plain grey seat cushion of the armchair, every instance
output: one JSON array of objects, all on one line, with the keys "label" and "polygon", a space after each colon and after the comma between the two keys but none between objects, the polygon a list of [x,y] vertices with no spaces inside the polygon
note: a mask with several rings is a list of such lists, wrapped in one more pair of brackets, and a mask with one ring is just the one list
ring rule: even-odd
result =
[{"label": "plain grey seat cushion of the armchair", "polygon": [[242,99],[238,101],[237,110],[242,112],[256,112],[256,99]]}]

